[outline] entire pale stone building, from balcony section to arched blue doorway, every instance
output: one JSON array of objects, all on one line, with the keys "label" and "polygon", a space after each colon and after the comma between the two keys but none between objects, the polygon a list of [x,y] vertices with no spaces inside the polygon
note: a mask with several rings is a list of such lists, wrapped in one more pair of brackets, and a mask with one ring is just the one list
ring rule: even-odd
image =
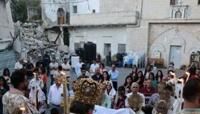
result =
[{"label": "entire pale stone building, from balcony section to arched blue doorway", "polygon": [[191,53],[200,50],[200,0],[88,0],[88,6],[80,4],[86,3],[70,3],[71,50],[91,41],[103,57],[108,50],[112,55],[144,52],[165,66],[174,62],[176,68],[188,65]]}]

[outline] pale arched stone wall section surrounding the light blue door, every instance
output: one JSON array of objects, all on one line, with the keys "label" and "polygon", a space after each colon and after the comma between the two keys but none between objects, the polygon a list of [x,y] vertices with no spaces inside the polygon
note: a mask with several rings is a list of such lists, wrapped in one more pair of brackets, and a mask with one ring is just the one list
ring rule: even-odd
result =
[{"label": "pale arched stone wall section surrounding the light blue door", "polygon": [[[180,29],[179,29],[180,27]],[[150,45],[150,52],[149,55],[153,54],[153,49],[160,48],[156,46],[157,44],[163,45],[165,51],[163,51],[163,58],[165,60],[165,65],[169,63],[170,57],[170,46],[181,46],[181,64],[188,65],[190,61],[190,55],[194,51],[200,50],[200,37],[199,37],[199,30],[190,30],[187,26],[174,26],[174,28],[167,30],[163,30],[164,32],[160,32],[155,37],[154,42]],[[156,34],[156,33],[154,33]],[[151,35],[153,36],[153,35]]]}]

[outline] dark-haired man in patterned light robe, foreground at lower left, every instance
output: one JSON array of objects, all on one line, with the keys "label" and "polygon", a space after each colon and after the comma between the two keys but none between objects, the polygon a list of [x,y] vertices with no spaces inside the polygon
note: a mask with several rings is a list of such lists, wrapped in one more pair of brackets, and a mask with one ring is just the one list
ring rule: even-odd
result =
[{"label": "dark-haired man in patterned light robe, foreground at lower left", "polygon": [[36,107],[24,96],[27,80],[23,70],[13,72],[11,84],[13,87],[3,96],[3,114],[39,114]]}]

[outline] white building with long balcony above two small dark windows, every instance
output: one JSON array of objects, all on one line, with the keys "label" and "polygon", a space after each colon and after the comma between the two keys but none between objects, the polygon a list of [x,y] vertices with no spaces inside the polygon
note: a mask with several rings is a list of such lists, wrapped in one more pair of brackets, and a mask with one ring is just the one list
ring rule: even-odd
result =
[{"label": "white building with long balcony above two small dark windows", "polygon": [[[70,49],[75,50],[83,42],[93,42],[97,45],[97,53],[103,57],[108,56],[109,51],[114,55],[129,50],[129,28],[139,24],[138,10],[141,6],[136,7],[136,3],[130,0],[120,3],[112,0],[89,0],[89,7],[92,7],[90,3],[94,1],[96,4],[93,10],[84,10],[85,12],[79,12],[81,3],[72,3]],[[132,5],[128,5],[130,3]],[[77,12],[74,11],[74,7],[77,7]]]}]

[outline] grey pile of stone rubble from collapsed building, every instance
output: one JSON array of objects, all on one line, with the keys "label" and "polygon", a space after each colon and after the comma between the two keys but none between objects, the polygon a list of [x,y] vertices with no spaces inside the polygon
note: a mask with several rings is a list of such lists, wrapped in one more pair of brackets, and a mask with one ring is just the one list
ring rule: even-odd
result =
[{"label": "grey pile of stone rubble from collapsed building", "polygon": [[21,49],[23,49],[23,53],[25,54],[23,59],[30,59],[35,63],[45,53],[48,53],[50,58],[55,58],[58,62],[61,62],[60,60],[68,54],[59,48],[59,44],[48,40],[48,36],[40,24],[21,24],[19,26],[19,34],[22,44]]}]

